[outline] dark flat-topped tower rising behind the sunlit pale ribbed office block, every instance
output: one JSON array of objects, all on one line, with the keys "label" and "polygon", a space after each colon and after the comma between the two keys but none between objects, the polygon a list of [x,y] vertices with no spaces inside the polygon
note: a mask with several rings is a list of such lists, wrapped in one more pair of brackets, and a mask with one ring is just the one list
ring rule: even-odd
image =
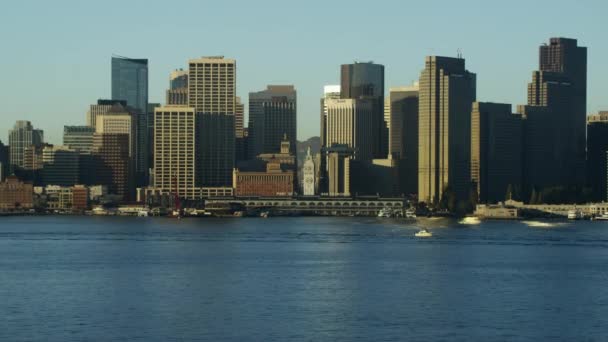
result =
[{"label": "dark flat-topped tower rising behind the sunlit pale ribbed office block", "polygon": [[371,98],[374,100],[373,155],[386,158],[388,136],[384,123],[384,65],[373,62],[343,64],[340,73],[340,97],[342,99]]}]

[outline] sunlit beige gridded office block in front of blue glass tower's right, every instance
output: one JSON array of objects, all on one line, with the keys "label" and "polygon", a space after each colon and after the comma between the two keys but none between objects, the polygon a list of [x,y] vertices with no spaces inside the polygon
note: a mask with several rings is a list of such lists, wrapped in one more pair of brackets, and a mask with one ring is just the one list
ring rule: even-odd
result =
[{"label": "sunlit beige gridded office block in front of blue glass tower's right", "polygon": [[165,106],[154,111],[154,187],[194,199],[197,191],[197,116],[194,108]]}]

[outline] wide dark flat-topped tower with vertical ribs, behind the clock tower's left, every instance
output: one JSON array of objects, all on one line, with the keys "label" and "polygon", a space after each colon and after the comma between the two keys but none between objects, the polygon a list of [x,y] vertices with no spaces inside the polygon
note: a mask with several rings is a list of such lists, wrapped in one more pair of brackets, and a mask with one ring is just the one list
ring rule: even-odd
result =
[{"label": "wide dark flat-topped tower with vertical ribs, behind the clock tower's left", "polygon": [[250,159],[278,152],[285,135],[295,155],[296,112],[296,90],[292,85],[269,85],[266,90],[249,93]]}]

